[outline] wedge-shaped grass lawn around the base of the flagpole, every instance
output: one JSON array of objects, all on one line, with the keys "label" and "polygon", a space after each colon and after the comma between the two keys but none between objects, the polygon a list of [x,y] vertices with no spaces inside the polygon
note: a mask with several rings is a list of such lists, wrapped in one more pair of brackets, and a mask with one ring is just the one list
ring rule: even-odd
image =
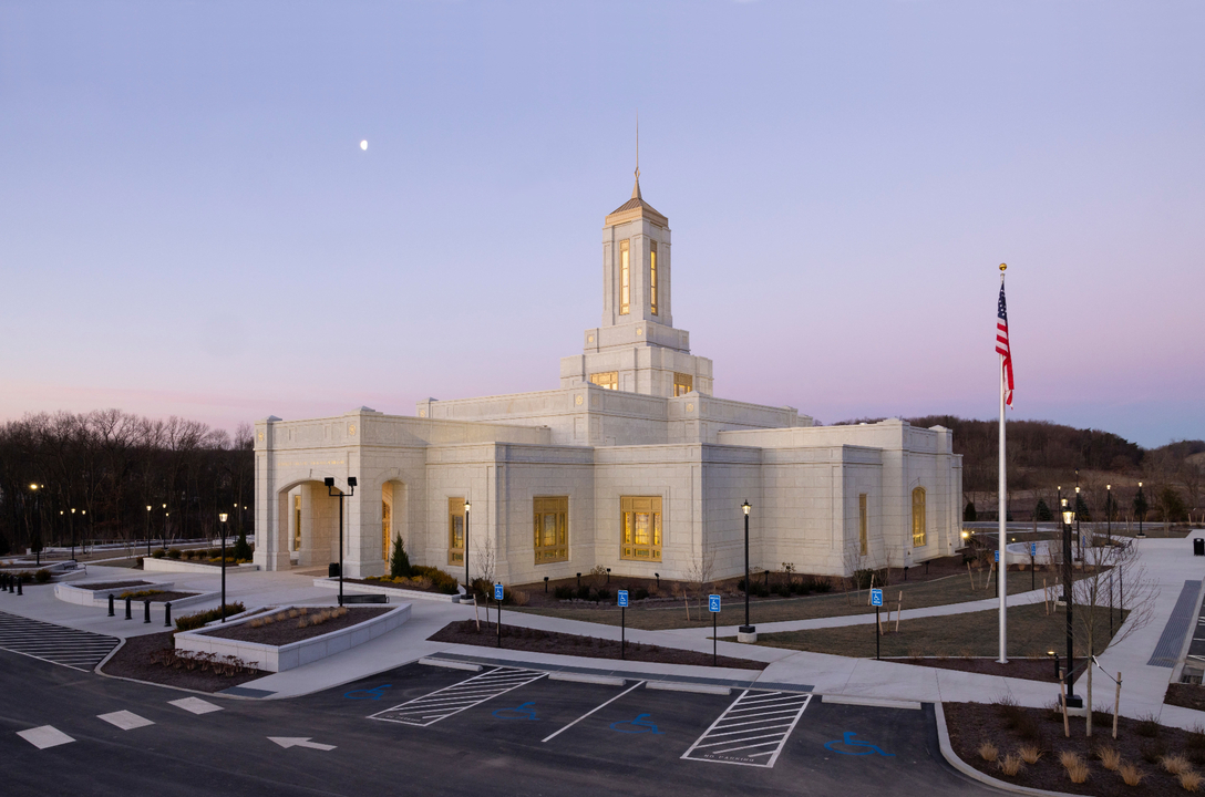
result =
[{"label": "wedge-shaped grass lawn around the base of the flagpole", "polygon": [[[1078,610],[1078,609],[1077,609]],[[886,614],[883,615],[886,618]],[[1113,630],[1121,627],[1121,612],[1113,614]],[[883,620],[886,626],[886,619]],[[1076,620],[1078,625],[1078,620]],[[997,642],[997,613],[968,612],[941,618],[918,618],[900,622],[899,633],[886,633],[880,644],[882,656],[994,656],[999,653]],[[887,628],[884,627],[884,631]],[[1076,628],[1076,656],[1086,653],[1080,648],[1082,628]],[[1095,647],[1100,653],[1109,633],[1109,609],[1098,613]],[[875,626],[847,626],[841,628],[815,628],[809,631],[784,631],[759,633],[757,644],[771,648],[790,648],[828,653],[837,656],[874,659]],[[1066,615],[1060,610],[1046,614],[1041,603],[1009,607],[1009,656],[1046,657],[1047,650],[1066,650]]]}]

